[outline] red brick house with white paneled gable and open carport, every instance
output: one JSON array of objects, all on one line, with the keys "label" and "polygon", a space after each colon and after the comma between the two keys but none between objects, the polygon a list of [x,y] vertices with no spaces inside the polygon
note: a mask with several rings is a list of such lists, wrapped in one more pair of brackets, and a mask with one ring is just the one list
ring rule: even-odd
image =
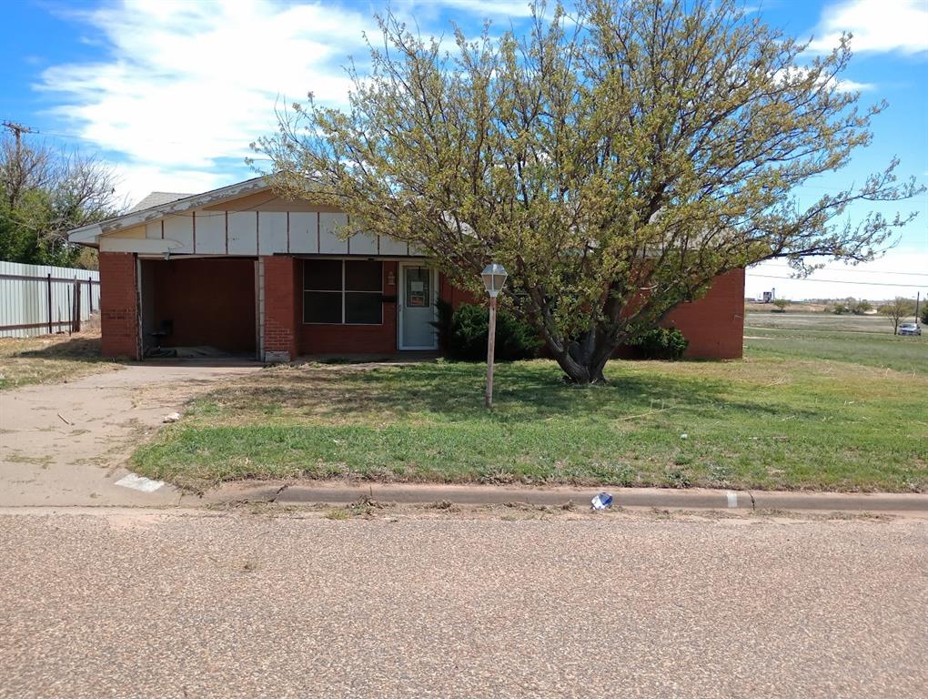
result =
[{"label": "red brick house with white paneled gable and open carport", "polygon": [[[464,294],[405,242],[337,235],[345,214],[285,201],[264,178],[196,195],[155,193],[71,231],[99,249],[103,354],[211,346],[267,361],[437,351],[435,302]],[[688,356],[741,356],[744,273],[668,319]]]}]

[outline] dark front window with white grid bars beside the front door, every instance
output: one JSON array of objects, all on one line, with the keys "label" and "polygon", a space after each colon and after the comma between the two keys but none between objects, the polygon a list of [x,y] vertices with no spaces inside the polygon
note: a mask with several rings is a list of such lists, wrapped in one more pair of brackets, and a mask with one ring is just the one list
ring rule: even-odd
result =
[{"label": "dark front window with white grid bars beside the front door", "polygon": [[303,322],[380,325],[383,263],[304,260]]}]

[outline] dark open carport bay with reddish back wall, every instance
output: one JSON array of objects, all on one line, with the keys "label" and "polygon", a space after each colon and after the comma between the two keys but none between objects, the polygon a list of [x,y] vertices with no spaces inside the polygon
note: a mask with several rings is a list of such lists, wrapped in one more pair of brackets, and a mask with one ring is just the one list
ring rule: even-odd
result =
[{"label": "dark open carport bay with reddish back wall", "polygon": [[256,354],[252,258],[140,261],[146,357]]}]

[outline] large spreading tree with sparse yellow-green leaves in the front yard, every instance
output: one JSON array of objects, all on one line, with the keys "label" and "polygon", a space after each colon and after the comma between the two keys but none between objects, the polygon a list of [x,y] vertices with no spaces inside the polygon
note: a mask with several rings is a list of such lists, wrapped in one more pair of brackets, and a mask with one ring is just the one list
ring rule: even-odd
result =
[{"label": "large spreading tree with sparse yellow-green leaves in the front yard", "polygon": [[866,261],[909,220],[838,222],[854,202],[920,190],[896,183],[896,161],[805,206],[792,194],[870,143],[884,107],[858,110],[843,89],[848,37],[806,59],[733,0],[543,15],[523,37],[458,31],[453,51],[381,19],[369,67],[349,68],[350,108],[310,95],[255,146],[275,186],[415,244],[473,291],[487,261],[506,265],[507,303],[575,382],[603,381],[619,344],[719,274]]}]

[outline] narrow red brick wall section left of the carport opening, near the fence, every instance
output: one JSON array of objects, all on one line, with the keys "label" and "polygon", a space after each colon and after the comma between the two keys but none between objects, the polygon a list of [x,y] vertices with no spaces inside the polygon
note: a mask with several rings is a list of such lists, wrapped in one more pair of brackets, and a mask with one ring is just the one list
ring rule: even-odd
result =
[{"label": "narrow red brick wall section left of the carport opening, near the fence", "polygon": [[139,358],[135,254],[100,252],[103,356]]}]

